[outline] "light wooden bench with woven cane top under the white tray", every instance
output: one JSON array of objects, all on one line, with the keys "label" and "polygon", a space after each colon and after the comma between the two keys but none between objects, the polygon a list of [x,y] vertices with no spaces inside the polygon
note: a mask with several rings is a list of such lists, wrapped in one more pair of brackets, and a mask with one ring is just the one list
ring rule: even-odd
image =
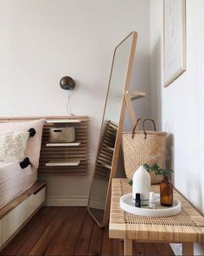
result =
[{"label": "light wooden bench with woven cane top under the white tray", "polygon": [[[154,185],[151,191],[159,192]],[[182,243],[182,254],[194,254],[194,242],[204,242],[204,217],[181,194],[174,190],[182,202],[182,212],[171,217],[143,217],[126,213],[119,207],[119,199],[131,193],[127,179],[112,180],[112,203],[109,237],[124,239],[124,255],[132,255],[132,240],[139,242]]]}]

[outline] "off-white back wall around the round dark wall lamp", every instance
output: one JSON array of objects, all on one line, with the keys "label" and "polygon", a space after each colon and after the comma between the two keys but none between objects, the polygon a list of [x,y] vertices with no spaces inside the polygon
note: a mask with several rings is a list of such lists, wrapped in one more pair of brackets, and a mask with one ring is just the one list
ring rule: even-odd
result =
[{"label": "off-white back wall around the round dark wall lamp", "polygon": [[[0,116],[67,115],[59,81],[70,75],[73,114],[91,117],[89,174],[42,177],[48,203],[86,204],[113,49],[131,30],[138,32],[131,88],[147,91],[149,0],[0,0]],[[147,93],[138,115],[150,116],[149,102]]]}]

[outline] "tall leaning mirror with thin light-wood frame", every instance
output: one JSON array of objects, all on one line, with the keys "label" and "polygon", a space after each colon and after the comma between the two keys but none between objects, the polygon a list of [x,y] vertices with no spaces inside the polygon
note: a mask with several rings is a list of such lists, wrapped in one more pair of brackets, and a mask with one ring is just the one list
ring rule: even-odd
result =
[{"label": "tall leaning mirror with thin light-wood frame", "polygon": [[113,54],[98,154],[88,202],[88,212],[99,226],[105,226],[109,217],[111,181],[117,172],[124,123],[124,92],[129,89],[131,81],[136,42],[137,33],[133,31],[118,44]]}]

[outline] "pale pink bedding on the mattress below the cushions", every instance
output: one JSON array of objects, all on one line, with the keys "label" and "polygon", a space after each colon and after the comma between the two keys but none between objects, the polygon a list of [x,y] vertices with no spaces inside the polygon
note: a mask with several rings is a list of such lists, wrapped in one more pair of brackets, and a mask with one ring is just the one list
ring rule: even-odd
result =
[{"label": "pale pink bedding on the mattress below the cushions", "polygon": [[30,165],[22,169],[19,163],[0,161],[0,208],[29,189],[37,180],[37,171]]}]

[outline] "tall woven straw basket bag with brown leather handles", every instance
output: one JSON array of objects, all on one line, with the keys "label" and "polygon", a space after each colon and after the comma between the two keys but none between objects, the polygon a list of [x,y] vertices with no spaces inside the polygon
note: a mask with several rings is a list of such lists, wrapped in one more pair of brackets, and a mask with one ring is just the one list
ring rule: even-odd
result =
[{"label": "tall woven straw basket bag with brown leather handles", "polygon": [[[139,121],[143,121],[143,130],[137,131]],[[154,131],[145,130],[145,121],[153,123]],[[124,171],[129,180],[132,179],[137,168],[144,163],[164,167],[166,139],[167,133],[157,132],[155,121],[152,119],[138,118],[132,132],[123,133]],[[151,184],[163,181],[163,176],[156,176],[153,172],[150,176]]]}]

